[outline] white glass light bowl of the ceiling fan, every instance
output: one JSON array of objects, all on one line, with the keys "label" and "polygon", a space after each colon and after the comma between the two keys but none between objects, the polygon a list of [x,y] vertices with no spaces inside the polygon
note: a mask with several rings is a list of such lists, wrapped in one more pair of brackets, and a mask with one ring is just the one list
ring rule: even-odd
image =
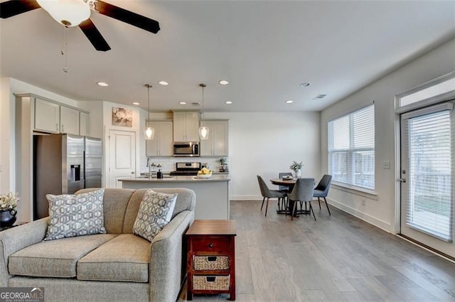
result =
[{"label": "white glass light bowl of the ceiling fan", "polygon": [[78,26],[90,18],[90,6],[83,0],[36,0],[55,21],[66,27]]}]

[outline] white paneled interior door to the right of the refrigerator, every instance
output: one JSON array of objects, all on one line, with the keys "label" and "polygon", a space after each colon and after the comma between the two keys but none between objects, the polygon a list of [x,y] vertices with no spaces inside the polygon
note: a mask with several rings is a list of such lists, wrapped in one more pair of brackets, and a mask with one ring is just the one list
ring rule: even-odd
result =
[{"label": "white paneled interior door to the right of the refrigerator", "polygon": [[122,188],[120,178],[136,175],[136,133],[109,131],[109,188]]}]

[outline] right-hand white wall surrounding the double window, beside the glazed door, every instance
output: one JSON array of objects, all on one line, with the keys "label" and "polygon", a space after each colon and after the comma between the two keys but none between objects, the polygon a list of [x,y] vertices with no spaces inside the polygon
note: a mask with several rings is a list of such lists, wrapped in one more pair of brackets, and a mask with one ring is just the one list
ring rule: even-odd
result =
[{"label": "right-hand white wall surrounding the double window, beside the glazed door", "polygon": [[[455,40],[423,55],[371,85],[321,112],[321,171],[328,171],[327,122],[375,101],[375,191],[377,198],[348,193],[331,187],[329,202],[384,230],[397,232],[395,210],[395,112],[394,97],[400,92],[455,70]],[[382,168],[390,161],[390,169]],[[365,200],[365,205],[362,205]]]}]

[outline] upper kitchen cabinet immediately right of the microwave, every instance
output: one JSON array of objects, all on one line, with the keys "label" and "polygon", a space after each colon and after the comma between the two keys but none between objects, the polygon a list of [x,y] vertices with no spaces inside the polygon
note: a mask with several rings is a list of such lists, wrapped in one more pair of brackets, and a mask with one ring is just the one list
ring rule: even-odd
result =
[{"label": "upper kitchen cabinet immediately right of the microwave", "polygon": [[205,120],[208,139],[200,140],[200,156],[228,156],[228,121]]}]

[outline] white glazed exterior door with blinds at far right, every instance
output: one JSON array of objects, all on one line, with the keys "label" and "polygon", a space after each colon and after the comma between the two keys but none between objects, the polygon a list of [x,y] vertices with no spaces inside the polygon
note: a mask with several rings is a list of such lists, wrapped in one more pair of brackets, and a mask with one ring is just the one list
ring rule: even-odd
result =
[{"label": "white glazed exterior door with blinds at far right", "polygon": [[451,257],[454,110],[446,102],[401,116],[401,233]]}]

